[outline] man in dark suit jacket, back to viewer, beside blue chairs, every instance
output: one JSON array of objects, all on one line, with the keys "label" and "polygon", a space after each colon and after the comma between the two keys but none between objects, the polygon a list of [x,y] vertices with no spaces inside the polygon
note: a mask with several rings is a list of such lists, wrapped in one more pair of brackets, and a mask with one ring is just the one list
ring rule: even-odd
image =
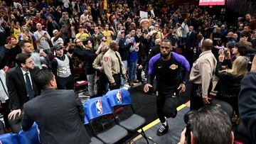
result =
[{"label": "man in dark suit jacket, back to viewer, beside blue chairs", "polygon": [[85,130],[83,106],[73,90],[56,90],[52,72],[39,70],[35,83],[42,93],[23,106],[22,129],[28,131],[36,121],[41,143],[87,144],[90,138]]}]

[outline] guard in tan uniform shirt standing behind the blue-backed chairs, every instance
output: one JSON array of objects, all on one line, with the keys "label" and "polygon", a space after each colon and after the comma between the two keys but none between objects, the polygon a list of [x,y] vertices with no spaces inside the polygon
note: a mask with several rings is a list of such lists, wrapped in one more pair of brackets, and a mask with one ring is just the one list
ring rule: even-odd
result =
[{"label": "guard in tan uniform shirt standing behind the blue-backed chairs", "polygon": [[118,43],[112,40],[110,43],[110,50],[107,50],[103,56],[104,72],[110,83],[110,90],[119,89],[121,85],[121,74],[127,81],[126,70],[124,63],[117,50],[119,49]]}]

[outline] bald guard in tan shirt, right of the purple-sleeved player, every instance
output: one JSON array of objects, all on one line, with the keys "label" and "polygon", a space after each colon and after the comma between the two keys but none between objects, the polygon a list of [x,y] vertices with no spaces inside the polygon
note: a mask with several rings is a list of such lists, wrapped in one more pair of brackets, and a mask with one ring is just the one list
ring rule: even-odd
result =
[{"label": "bald guard in tan shirt, right of the purple-sleeved player", "polygon": [[192,82],[191,109],[199,109],[204,104],[210,104],[208,101],[208,90],[211,90],[211,79],[217,66],[211,49],[213,40],[206,39],[203,41],[201,55],[193,63],[191,69],[190,81]]}]

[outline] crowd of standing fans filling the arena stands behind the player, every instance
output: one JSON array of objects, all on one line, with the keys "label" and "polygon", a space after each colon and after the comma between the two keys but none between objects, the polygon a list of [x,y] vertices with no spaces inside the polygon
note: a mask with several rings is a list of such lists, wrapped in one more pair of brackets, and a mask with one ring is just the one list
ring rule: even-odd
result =
[{"label": "crowd of standing fans filling the arena stands behind the player", "polygon": [[[80,67],[89,82],[90,97],[102,96],[107,92],[107,84],[110,83],[110,87],[112,84],[110,77],[105,75],[112,72],[102,67],[109,60],[104,54],[112,40],[119,46],[124,74],[127,72],[128,84],[132,87],[134,83],[145,82],[142,72],[146,77],[148,62],[159,53],[161,40],[171,40],[174,51],[184,55],[192,67],[201,53],[203,40],[210,38],[214,46],[212,52],[218,60],[216,99],[230,103],[239,115],[240,82],[250,61],[250,57],[247,60],[240,56],[247,56],[247,50],[256,48],[256,16],[247,13],[236,23],[227,23],[199,7],[187,9],[181,16],[174,5],[126,0],[107,5],[105,1],[63,0],[53,5],[45,0],[39,3],[0,1],[1,81],[5,82],[4,73],[16,66],[18,53],[30,53],[35,66],[52,70],[58,89],[73,89],[74,68]],[[149,11],[148,18],[140,18],[139,11]],[[65,69],[60,65],[65,65]],[[223,72],[231,75],[228,80]],[[102,86],[98,86],[98,94],[96,75],[105,79]],[[120,87],[126,84],[125,78]],[[1,96],[4,98],[0,99],[2,104],[13,99],[4,92],[6,84],[3,82],[1,95],[6,96]],[[9,89],[8,84],[6,88]],[[7,105],[4,109],[9,109]],[[9,112],[4,113],[6,123]],[[8,124],[6,126],[8,128]]]}]

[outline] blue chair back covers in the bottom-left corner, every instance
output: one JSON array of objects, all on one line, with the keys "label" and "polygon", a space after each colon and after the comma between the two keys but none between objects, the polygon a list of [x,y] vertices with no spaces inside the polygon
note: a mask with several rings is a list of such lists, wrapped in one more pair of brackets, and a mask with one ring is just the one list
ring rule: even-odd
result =
[{"label": "blue chair back covers in the bottom-left corner", "polygon": [[0,143],[3,144],[40,144],[39,131],[36,123],[28,131],[19,133],[4,133],[0,135]]}]

